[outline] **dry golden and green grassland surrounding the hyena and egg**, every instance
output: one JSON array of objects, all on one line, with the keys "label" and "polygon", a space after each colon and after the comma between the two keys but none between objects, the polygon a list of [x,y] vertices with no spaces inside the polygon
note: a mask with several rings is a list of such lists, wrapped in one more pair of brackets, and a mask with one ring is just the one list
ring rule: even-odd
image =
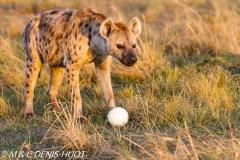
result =
[{"label": "dry golden and green grassland surrounding the hyena and egg", "polygon": [[[23,28],[40,10],[83,6],[117,21],[142,21],[138,63],[112,65],[116,101],[129,123],[108,124],[92,64],[80,74],[87,124],[72,118],[65,82],[63,112],[51,111],[47,66],[35,91],[37,116],[23,121]],[[89,159],[239,159],[239,7],[233,0],[1,1],[0,134],[10,139],[0,139],[0,150],[28,144],[30,150],[86,150]]]}]

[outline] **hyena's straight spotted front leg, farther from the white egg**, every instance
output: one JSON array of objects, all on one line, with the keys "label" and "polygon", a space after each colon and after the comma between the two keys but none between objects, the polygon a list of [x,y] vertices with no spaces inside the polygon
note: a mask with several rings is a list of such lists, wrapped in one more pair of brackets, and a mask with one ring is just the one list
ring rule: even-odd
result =
[{"label": "hyena's straight spotted front leg, farther from the white egg", "polygon": [[74,118],[83,122],[82,98],[79,90],[79,68],[67,66],[67,83],[71,95],[71,104],[74,106]]}]

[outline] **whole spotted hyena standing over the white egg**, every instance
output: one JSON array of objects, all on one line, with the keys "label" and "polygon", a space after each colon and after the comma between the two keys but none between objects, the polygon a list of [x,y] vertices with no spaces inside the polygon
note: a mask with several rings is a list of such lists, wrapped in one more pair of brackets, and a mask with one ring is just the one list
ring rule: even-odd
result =
[{"label": "whole spotted hyena standing over the white egg", "polygon": [[140,32],[137,18],[126,26],[90,8],[53,9],[38,14],[23,33],[27,65],[24,117],[33,116],[34,87],[44,62],[51,70],[47,94],[55,110],[61,110],[57,94],[66,73],[74,117],[82,117],[79,70],[90,62],[95,64],[107,107],[115,107],[110,79],[111,57],[126,66],[134,65]]}]

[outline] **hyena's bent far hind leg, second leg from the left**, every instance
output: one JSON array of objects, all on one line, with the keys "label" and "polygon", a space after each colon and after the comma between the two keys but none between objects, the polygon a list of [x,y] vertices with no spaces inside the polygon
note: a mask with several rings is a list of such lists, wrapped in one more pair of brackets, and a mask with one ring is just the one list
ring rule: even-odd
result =
[{"label": "hyena's bent far hind leg, second leg from the left", "polygon": [[61,107],[57,101],[57,94],[60,85],[62,84],[62,80],[64,77],[65,68],[63,67],[51,67],[51,79],[48,89],[48,96],[52,103],[53,109],[56,111],[61,111]]}]

